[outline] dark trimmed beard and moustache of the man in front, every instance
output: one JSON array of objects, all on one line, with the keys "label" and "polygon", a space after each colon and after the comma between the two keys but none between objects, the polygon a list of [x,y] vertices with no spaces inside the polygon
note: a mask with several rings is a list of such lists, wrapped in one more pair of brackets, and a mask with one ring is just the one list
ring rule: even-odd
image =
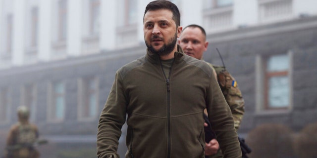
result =
[{"label": "dark trimmed beard and moustache of the man in front", "polygon": [[[161,39],[163,40],[163,38],[159,38],[159,36],[154,35],[153,37],[151,37],[152,39]],[[175,36],[171,39],[168,40],[167,44],[164,44],[161,48],[159,48],[159,50],[155,50],[152,44],[148,44],[147,41],[145,41],[145,44],[147,45],[148,49],[155,53],[158,54],[159,56],[164,56],[169,54],[175,47],[177,41],[177,32],[175,33]]]}]

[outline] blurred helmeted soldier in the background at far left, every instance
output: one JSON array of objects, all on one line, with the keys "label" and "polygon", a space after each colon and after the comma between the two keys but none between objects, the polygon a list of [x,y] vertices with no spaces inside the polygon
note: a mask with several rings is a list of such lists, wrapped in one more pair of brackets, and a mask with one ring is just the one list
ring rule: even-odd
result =
[{"label": "blurred helmeted soldier in the background at far left", "polygon": [[29,123],[28,108],[19,106],[17,115],[19,120],[11,126],[7,137],[5,158],[39,158],[34,147],[39,132],[36,125]]}]

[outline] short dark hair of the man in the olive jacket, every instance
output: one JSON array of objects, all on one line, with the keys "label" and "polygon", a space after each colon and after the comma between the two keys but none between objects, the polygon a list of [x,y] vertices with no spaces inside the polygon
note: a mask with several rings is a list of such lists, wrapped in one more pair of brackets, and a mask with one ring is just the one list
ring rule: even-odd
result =
[{"label": "short dark hair of the man in the olive jacket", "polygon": [[151,1],[146,7],[143,15],[143,21],[144,21],[144,16],[149,10],[159,10],[159,9],[168,9],[173,13],[173,20],[176,23],[176,27],[180,26],[180,13],[178,10],[178,7],[168,1],[168,0],[154,0]]}]

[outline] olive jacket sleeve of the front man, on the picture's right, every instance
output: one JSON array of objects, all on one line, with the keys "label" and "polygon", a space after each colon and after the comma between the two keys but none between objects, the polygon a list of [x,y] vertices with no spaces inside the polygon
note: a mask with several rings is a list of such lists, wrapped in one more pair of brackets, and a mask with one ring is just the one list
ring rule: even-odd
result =
[{"label": "olive jacket sleeve of the front man, on the picture's right", "polygon": [[206,106],[211,128],[216,133],[217,140],[224,158],[241,158],[241,148],[238,134],[234,128],[234,120],[222,91],[214,78],[210,77],[207,90]]}]

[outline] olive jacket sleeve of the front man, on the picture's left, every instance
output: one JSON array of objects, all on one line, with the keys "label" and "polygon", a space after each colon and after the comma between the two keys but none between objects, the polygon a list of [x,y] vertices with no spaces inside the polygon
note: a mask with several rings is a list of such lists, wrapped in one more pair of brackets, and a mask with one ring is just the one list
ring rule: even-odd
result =
[{"label": "olive jacket sleeve of the front man, on the picture's left", "polygon": [[100,115],[97,133],[98,158],[118,158],[118,140],[125,123],[127,99],[124,94],[119,71],[109,92],[105,107]]}]

